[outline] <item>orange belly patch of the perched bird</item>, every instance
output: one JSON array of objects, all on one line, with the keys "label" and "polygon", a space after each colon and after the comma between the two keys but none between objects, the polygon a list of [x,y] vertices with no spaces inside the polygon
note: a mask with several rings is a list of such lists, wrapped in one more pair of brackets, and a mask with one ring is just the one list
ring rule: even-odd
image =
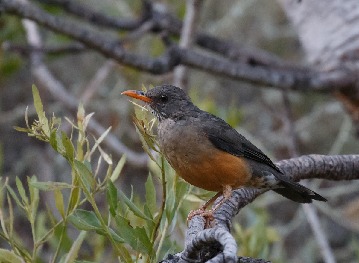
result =
[{"label": "orange belly patch of the perched bird", "polygon": [[[169,160],[170,161],[170,160]],[[170,161],[173,169],[188,183],[209,191],[223,191],[224,185],[238,189],[251,178],[251,169],[242,157],[215,149],[186,163]]]}]

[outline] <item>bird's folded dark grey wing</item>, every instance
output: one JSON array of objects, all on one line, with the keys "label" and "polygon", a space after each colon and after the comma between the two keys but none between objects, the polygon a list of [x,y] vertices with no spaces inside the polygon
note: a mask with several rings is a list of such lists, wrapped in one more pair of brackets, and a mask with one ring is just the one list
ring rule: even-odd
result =
[{"label": "bird's folded dark grey wing", "polygon": [[265,163],[282,174],[280,169],[270,160],[268,156],[266,156],[243,135],[239,134],[224,120],[208,112],[202,112],[201,123],[203,124],[203,132],[219,149],[235,156],[243,156]]}]

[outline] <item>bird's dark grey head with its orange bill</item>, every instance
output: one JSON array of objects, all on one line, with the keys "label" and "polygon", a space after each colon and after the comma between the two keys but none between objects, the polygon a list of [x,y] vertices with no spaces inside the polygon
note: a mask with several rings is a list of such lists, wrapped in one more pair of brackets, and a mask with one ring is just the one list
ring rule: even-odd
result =
[{"label": "bird's dark grey head with its orange bill", "polygon": [[164,119],[176,121],[186,114],[199,110],[186,92],[171,85],[158,86],[147,92],[125,91],[122,94],[147,102],[152,114],[159,121]]}]

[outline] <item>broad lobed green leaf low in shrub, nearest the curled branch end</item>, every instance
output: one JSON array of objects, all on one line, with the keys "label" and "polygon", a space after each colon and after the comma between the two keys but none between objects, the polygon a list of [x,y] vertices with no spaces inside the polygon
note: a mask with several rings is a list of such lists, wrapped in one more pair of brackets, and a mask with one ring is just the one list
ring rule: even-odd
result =
[{"label": "broad lobed green leaf low in shrub, nearest the curled branch end", "polygon": [[152,244],[144,227],[133,228],[130,220],[119,215],[116,216],[116,223],[121,236],[133,249],[147,254],[152,253]]}]

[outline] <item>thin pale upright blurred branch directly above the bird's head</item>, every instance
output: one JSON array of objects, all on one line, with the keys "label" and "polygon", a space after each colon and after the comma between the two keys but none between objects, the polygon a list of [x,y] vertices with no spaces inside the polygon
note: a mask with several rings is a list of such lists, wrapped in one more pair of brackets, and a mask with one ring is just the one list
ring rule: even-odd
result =
[{"label": "thin pale upright blurred branch directly above the bird's head", "polygon": [[[202,0],[187,0],[186,14],[183,22],[179,47],[189,49],[195,42],[196,27],[199,20],[200,6]],[[182,89],[187,89],[187,69],[183,65],[174,68],[173,85]]]}]

